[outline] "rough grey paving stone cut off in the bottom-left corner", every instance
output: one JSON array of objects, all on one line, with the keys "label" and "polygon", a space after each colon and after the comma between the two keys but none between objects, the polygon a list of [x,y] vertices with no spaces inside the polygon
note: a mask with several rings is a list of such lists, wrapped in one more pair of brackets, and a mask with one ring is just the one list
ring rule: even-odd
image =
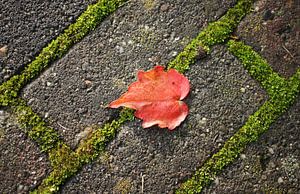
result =
[{"label": "rough grey paving stone cut off in the bottom-left corner", "polygon": [[12,118],[0,109],[0,193],[28,193],[45,178],[50,164]]}]

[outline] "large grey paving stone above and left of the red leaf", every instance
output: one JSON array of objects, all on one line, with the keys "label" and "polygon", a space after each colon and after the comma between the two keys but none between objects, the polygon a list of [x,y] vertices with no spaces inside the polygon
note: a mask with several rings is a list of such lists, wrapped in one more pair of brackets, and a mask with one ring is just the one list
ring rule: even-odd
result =
[{"label": "large grey paving stone above and left of the red leaf", "polygon": [[220,0],[131,1],[22,95],[75,147],[76,134],[115,116],[118,111],[106,105],[136,79],[138,69],[166,64],[233,4]]}]

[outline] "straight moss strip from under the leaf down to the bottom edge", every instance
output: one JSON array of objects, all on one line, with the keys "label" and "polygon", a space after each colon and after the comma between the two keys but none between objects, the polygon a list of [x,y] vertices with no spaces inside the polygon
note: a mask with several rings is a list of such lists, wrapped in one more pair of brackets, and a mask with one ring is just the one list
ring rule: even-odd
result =
[{"label": "straight moss strip from under the leaf down to the bottom edge", "polygon": [[76,174],[84,164],[105,153],[107,144],[115,137],[121,124],[133,119],[133,110],[124,108],[118,119],[94,131],[92,136],[80,144],[75,152],[63,143],[57,144],[56,147],[49,150],[49,159],[53,170],[33,193],[57,192],[59,187]]}]

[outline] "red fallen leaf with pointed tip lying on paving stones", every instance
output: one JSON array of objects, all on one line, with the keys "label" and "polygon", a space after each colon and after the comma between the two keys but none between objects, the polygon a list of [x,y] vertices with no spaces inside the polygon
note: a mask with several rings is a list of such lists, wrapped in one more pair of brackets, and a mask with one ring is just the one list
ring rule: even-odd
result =
[{"label": "red fallen leaf with pointed tip lying on paving stones", "polygon": [[138,72],[138,81],[109,107],[120,106],[137,110],[135,116],[143,120],[144,128],[158,124],[173,130],[186,118],[188,106],[182,102],[190,90],[186,77],[175,69],[165,72],[162,66]]}]

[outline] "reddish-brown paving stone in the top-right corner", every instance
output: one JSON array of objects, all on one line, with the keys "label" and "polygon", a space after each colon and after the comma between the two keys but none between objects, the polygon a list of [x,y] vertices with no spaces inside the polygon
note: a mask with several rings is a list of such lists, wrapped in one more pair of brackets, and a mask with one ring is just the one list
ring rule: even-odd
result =
[{"label": "reddish-brown paving stone in the top-right corner", "polygon": [[259,0],[241,22],[237,36],[289,77],[300,67],[299,1]]}]

